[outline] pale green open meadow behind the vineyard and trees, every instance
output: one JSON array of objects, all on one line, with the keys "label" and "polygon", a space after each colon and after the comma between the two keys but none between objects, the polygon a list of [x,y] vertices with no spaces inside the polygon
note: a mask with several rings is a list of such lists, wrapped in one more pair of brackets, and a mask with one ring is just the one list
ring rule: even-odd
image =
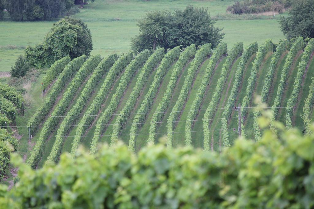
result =
[{"label": "pale green open meadow behind the vineyard and trees", "polygon": [[[80,13],[75,14],[89,27],[94,50],[92,54],[106,56],[117,52],[127,52],[130,40],[138,34],[137,20],[145,13],[153,10],[167,9],[174,11],[192,4],[195,7],[207,8],[212,16],[225,15],[226,8],[233,4],[232,0],[188,1],[188,0],[158,0],[158,1],[117,1],[96,0]],[[13,22],[0,21],[0,71],[9,71],[18,55],[23,54],[23,48],[39,44],[48,33],[54,21]],[[255,20],[219,20],[216,26],[224,28],[223,39],[228,46],[243,41],[244,47],[252,41],[263,43],[265,39],[274,42],[283,39],[277,19]]]}]

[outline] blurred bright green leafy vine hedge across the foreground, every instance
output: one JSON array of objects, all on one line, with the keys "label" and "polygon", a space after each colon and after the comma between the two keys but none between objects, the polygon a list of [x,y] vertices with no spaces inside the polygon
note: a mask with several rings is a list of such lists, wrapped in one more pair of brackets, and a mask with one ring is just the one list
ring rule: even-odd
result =
[{"label": "blurred bright green leafy vine hedge across the foreground", "polygon": [[314,136],[271,131],[240,138],[222,153],[159,144],[134,154],[104,146],[68,153],[32,170],[18,154],[14,189],[0,186],[1,208],[313,208]]}]

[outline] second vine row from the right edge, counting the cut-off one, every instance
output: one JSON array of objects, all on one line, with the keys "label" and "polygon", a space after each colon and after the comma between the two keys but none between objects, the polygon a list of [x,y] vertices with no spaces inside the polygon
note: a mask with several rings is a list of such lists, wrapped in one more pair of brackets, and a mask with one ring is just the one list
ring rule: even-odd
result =
[{"label": "second vine row from the right edge, counting the cut-off one", "polygon": [[292,128],[291,116],[293,116],[294,106],[297,103],[298,95],[302,86],[302,79],[306,71],[307,63],[309,62],[311,55],[314,52],[314,39],[310,39],[301,57],[301,61],[298,65],[298,72],[295,77],[292,93],[288,99],[286,107],[286,127]]}]

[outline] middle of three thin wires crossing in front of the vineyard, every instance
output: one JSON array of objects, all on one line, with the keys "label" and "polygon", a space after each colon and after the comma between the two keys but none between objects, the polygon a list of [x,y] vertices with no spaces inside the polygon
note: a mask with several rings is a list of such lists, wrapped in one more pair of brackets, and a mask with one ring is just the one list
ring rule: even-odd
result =
[{"label": "middle of three thin wires crossing in front of the vineyard", "polygon": [[[226,118],[226,119],[232,119],[232,118],[238,118],[238,117],[230,117],[230,118]],[[255,116],[246,116],[245,118],[255,118]],[[269,116],[259,116],[256,118],[269,118]],[[276,116],[274,118],[285,118],[285,116]],[[290,118],[302,118],[302,116],[291,116]],[[314,118],[314,116],[309,116],[308,118]],[[224,118],[212,118],[212,119],[208,119],[207,121],[211,121],[211,120],[221,120]],[[179,120],[179,121],[171,121],[171,123],[180,123],[180,122],[187,122],[187,121],[204,121],[203,119],[198,119],[198,120]],[[168,121],[161,121],[161,122],[146,122],[146,123],[118,123],[116,125],[133,125],[133,124],[150,124],[150,123],[168,123]],[[101,126],[110,126],[110,125],[115,125],[115,123],[110,123],[110,124],[100,124]],[[42,126],[30,126],[30,127],[63,127],[63,126],[78,126],[78,125],[42,125]],[[83,126],[96,126],[96,124],[94,125],[83,125]],[[28,127],[28,126],[0,126],[0,128],[3,127]]]}]

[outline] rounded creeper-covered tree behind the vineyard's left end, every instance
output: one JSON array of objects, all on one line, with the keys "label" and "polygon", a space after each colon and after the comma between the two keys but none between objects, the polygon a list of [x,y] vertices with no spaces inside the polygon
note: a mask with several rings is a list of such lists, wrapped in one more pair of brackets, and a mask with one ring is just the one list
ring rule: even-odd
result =
[{"label": "rounded creeper-covered tree behind the vineyard's left end", "polygon": [[27,47],[25,56],[30,65],[43,68],[65,56],[72,59],[89,56],[92,49],[92,36],[87,25],[80,19],[66,17],[53,24],[41,44]]}]

